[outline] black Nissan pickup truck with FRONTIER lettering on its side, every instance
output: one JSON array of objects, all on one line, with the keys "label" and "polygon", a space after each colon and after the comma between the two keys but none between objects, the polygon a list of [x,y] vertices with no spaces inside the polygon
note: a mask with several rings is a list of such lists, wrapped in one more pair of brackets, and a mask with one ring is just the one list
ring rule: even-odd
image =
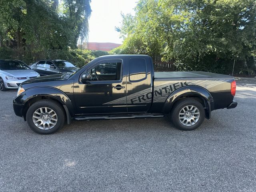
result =
[{"label": "black Nissan pickup truck with FRONTIER lettering on its side", "polygon": [[154,72],[146,55],[96,58],[74,73],[23,82],[14,112],[30,128],[50,134],[75,120],[159,118],[170,114],[181,130],[194,130],[212,110],[235,108],[232,76],[208,72]]}]

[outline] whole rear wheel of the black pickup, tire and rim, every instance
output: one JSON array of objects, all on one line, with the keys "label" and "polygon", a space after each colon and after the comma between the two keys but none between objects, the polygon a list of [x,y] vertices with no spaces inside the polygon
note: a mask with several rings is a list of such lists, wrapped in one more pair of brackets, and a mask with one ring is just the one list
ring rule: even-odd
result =
[{"label": "whole rear wheel of the black pickup, tire and rim", "polygon": [[177,101],[171,111],[171,120],[176,128],[191,131],[204,121],[204,107],[195,99],[187,98]]}]

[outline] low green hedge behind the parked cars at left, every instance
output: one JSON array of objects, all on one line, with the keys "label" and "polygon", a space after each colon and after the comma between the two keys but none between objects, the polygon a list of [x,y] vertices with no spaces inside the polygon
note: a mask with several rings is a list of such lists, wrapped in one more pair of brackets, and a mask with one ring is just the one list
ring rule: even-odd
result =
[{"label": "low green hedge behind the parked cars at left", "polygon": [[67,60],[78,67],[82,67],[91,60],[108,55],[105,51],[96,50],[81,50],[81,49],[66,49],[66,50],[47,50],[47,51],[28,51],[28,50],[18,50],[13,48],[0,48],[0,58],[1,59],[18,59],[22,60],[27,64],[36,62],[43,59],[62,59]]}]

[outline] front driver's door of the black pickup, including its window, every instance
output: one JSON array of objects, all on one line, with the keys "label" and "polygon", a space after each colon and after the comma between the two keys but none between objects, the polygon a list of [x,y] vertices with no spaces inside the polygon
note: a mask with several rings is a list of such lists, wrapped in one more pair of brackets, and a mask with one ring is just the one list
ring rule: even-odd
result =
[{"label": "front driver's door of the black pickup, including its window", "polygon": [[[126,78],[123,60],[100,61],[80,74],[74,83],[74,100],[79,114],[105,114],[127,112]],[[127,69],[126,69],[127,71]],[[82,82],[83,74],[91,79]]]}]

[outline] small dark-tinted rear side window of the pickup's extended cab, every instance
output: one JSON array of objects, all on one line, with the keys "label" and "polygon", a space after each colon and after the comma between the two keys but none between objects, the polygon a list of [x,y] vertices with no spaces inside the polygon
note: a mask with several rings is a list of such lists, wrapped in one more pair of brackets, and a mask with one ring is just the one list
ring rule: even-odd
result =
[{"label": "small dark-tinted rear side window of the pickup's extended cab", "polygon": [[142,58],[130,59],[129,79],[138,81],[146,78],[146,60]]}]

